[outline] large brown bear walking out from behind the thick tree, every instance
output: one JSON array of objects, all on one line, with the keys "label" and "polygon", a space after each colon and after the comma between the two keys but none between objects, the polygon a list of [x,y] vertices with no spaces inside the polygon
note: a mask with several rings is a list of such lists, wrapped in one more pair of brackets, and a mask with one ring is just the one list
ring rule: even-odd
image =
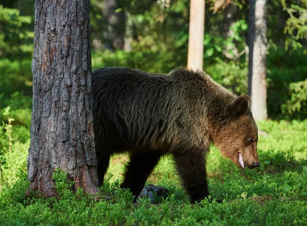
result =
[{"label": "large brown bear walking out from behind the thick tree", "polygon": [[110,157],[123,152],[130,159],[121,187],[136,197],[166,154],[172,155],[191,202],[208,197],[210,142],[241,169],[260,165],[250,97],[236,97],[203,71],[100,68],[92,83],[101,184]]}]

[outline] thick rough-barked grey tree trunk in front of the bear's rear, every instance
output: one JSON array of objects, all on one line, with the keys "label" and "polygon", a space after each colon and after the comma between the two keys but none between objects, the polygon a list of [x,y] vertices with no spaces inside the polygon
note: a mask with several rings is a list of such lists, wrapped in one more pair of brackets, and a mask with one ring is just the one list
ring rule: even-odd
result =
[{"label": "thick rough-barked grey tree trunk in front of the bear's rear", "polygon": [[66,169],[75,187],[96,192],[89,0],[36,1],[33,109],[28,180],[54,196],[52,173]]}]

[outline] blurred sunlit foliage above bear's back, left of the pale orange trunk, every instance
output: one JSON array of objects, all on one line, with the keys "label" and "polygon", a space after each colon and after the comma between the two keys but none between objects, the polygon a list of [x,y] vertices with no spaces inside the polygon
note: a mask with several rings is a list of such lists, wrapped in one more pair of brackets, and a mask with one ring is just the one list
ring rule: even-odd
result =
[{"label": "blurred sunlit foliage above bear's back, left of the pale orange trunk", "polygon": [[[95,63],[93,60],[93,68],[96,65],[115,65],[166,73],[186,64],[189,1],[176,1],[169,5],[145,2],[117,1],[118,7],[126,12],[127,38],[131,39],[133,50],[129,53],[98,53],[104,62]],[[94,30],[96,25],[104,23],[103,18],[99,23],[97,20],[94,20]]]}]

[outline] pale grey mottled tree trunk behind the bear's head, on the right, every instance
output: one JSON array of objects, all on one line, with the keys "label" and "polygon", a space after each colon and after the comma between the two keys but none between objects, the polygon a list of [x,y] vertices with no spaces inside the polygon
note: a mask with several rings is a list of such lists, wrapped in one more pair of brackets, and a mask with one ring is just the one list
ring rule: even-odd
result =
[{"label": "pale grey mottled tree trunk behind the bear's head, on the right", "polygon": [[250,0],[248,93],[256,120],[266,119],[267,113],[267,1]]}]

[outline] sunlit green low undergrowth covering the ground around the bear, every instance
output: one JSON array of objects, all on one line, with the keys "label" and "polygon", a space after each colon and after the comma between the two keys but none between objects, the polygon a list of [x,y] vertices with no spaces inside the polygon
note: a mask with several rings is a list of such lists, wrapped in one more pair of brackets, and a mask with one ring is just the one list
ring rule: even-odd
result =
[{"label": "sunlit green low undergrowth covering the ground around the bear", "polygon": [[[29,120],[28,110],[15,109],[12,117],[14,112],[23,113],[23,121]],[[113,177],[108,174],[95,197],[82,189],[73,193],[63,171],[53,176],[58,197],[26,192],[28,127],[28,123],[13,124],[11,155],[8,137],[0,128],[0,155],[9,168],[3,170],[1,225],[306,225],[307,120],[259,122],[259,129],[266,133],[259,135],[261,165],[253,170],[238,169],[212,146],[207,165],[209,192],[224,203],[203,200],[196,205],[189,204],[170,157],[162,159],[147,182],[169,189],[168,197],[158,205],[150,205],[147,199],[132,203],[130,193],[118,188],[125,155],[112,158],[108,172]]]}]

